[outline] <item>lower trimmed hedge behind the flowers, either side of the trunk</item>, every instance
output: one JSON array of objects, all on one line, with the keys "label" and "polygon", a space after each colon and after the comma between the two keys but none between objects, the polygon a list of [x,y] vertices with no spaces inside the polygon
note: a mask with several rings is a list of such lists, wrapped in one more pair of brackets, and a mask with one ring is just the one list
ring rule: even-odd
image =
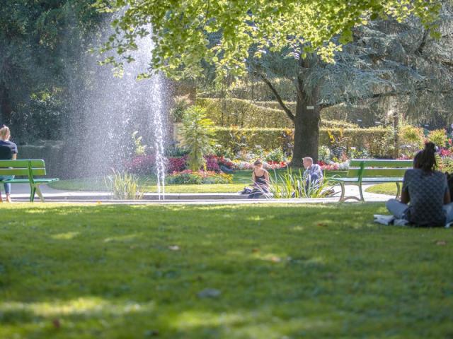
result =
[{"label": "lower trimmed hedge behind the flowers, either side of the trunk", "polygon": [[[375,157],[391,157],[394,150],[394,131],[391,128],[374,127],[370,129],[326,129],[319,131],[319,145],[331,146],[330,132],[336,140],[343,140],[349,149],[366,149]],[[265,150],[286,148],[291,129],[239,129],[236,127],[216,127],[217,143],[224,148],[243,148],[253,150],[257,145]],[[343,137],[341,137],[343,135]]]}]

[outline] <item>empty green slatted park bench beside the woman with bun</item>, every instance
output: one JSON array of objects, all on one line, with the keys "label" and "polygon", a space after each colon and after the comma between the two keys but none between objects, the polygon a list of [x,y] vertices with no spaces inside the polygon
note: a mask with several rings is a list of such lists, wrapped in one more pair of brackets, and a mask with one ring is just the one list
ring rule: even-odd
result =
[{"label": "empty green slatted park bench beside the woman with bun", "polygon": [[[412,160],[350,160],[348,174],[343,178],[333,178],[341,186],[340,201],[355,199],[365,201],[363,198],[362,184],[396,183],[396,198],[401,194],[401,182],[403,182],[406,170],[413,167]],[[345,196],[345,185],[355,184],[359,186],[360,198],[357,196]]]}]

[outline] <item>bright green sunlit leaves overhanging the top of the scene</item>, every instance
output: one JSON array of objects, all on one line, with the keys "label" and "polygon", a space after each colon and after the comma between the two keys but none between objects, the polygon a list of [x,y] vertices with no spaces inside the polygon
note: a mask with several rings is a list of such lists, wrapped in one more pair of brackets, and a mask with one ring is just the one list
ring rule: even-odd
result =
[{"label": "bright green sunlit leaves overhanging the top of the scene", "polygon": [[[430,34],[438,0],[98,0],[100,11],[124,10],[113,21],[115,34],[103,52],[116,49],[121,66],[132,61],[137,37],[152,34],[152,71],[173,78],[199,76],[203,63],[214,64],[219,77],[241,75],[246,60],[267,51],[304,58],[316,52],[333,61],[334,52],[352,41],[352,30],[368,20],[416,16]],[[123,9],[125,8],[125,9]],[[333,42],[333,37],[339,37]]]}]

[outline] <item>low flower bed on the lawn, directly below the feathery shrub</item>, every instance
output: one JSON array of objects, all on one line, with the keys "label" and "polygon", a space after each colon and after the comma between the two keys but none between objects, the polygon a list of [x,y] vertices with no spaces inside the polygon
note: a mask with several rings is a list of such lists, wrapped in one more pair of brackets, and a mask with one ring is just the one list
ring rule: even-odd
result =
[{"label": "low flower bed on the lawn, directly below the feathery shrub", "polygon": [[181,172],[173,172],[166,177],[167,184],[231,184],[233,176],[213,171],[197,171],[185,169]]}]

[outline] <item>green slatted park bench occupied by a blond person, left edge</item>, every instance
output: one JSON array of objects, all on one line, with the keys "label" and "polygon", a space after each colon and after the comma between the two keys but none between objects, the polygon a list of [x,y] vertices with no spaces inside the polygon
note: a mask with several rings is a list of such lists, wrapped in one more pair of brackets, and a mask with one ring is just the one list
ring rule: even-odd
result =
[{"label": "green slatted park bench occupied by a blond person, left edge", "polygon": [[[14,175],[14,179],[1,180],[0,184],[10,182],[11,184],[29,183],[30,184],[30,202],[35,201],[35,194],[38,194],[41,201],[44,202],[40,185],[56,182],[59,179],[37,178],[46,175],[44,160],[39,159],[21,159],[21,160],[0,160],[0,177]],[[17,178],[23,177],[23,178]],[[26,177],[26,178],[25,178]]]}]

